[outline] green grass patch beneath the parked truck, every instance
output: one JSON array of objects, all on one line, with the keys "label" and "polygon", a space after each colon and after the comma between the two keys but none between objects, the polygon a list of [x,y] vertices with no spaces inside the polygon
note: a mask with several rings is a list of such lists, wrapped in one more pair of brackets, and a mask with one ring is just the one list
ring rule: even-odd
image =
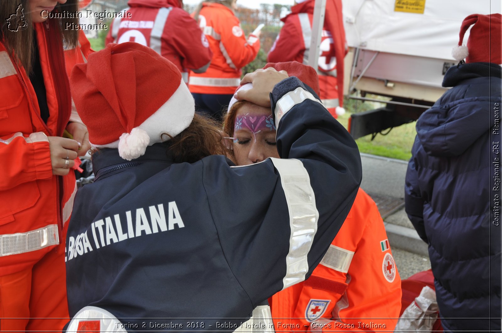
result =
[{"label": "green grass patch beneath the parked truck", "polygon": [[[338,116],[338,121],[347,128],[350,113],[347,112]],[[411,158],[411,148],[417,134],[415,130],[416,122],[395,127],[387,135],[377,134],[371,140],[371,135],[366,135],[355,140],[360,152],[379,155],[390,158],[409,160]]]}]

